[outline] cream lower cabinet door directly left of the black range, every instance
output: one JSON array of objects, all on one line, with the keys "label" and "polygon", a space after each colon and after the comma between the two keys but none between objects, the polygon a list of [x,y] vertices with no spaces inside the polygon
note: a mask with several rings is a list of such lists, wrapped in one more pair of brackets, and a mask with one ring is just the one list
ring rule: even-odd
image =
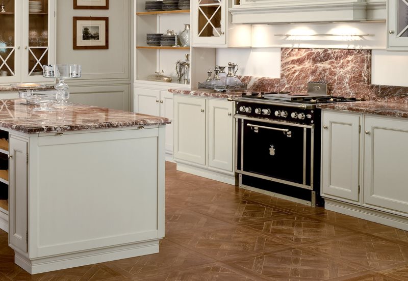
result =
[{"label": "cream lower cabinet door directly left of the black range", "polygon": [[233,103],[209,100],[208,166],[233,172]]}]

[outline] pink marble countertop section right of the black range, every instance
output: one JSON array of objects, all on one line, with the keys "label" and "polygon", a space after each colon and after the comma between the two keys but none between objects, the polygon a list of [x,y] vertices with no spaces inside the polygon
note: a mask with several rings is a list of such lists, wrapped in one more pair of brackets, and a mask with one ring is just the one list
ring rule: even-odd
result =
[{"label": "pink marble countertop section right of the black range", "polygon": [[364,114],[376,114],[408,118],[408,105],[403,103],[356,101],[356,102],[322,103],[318,104],[317,107],[322,109],[334,109],[340,111],[353,111]]}]

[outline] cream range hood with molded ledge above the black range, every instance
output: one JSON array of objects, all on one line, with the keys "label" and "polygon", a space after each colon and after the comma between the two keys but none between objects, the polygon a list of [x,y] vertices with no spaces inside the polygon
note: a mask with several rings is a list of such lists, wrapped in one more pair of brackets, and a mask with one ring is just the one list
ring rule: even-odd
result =
[{"label": "cream range hood with molded ledge above the black range", "polygon": [[[246,0],[247,1],[247,0]],[[268,1],[230,8],[233,23],[352,22],[384,20],[385,0]],[[271,3],[270,3],[271,2]],[[248,3],[248,2],[246,2]],[[255,4],[253,4],[255,3]],[[376,11],[378,10],[378,11]],[[384,15],[384,17],[383,17]],[[379,18],[378,18],[379,17]]]}]

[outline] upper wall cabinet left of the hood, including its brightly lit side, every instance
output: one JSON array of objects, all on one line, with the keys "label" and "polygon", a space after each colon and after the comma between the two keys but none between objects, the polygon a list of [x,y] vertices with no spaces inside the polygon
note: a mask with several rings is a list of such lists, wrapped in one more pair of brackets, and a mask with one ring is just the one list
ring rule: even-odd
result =
[{"label": "upper wall cabinet left of the hood, including its brightly lit side", "polygon": [[193,0],[193,47],[250,47],[251,27],[232,24],[232,0]]}]

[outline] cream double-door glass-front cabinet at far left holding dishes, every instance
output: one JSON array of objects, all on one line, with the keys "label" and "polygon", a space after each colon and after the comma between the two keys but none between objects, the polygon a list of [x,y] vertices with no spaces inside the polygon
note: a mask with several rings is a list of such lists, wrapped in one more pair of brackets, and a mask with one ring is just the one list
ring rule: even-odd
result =
[{"label": "cream double-door glass-front cabinet at far left holding dishes", "polygon": [[55,0],[0,1],[0,84],[47,81],[55,61]]}]

